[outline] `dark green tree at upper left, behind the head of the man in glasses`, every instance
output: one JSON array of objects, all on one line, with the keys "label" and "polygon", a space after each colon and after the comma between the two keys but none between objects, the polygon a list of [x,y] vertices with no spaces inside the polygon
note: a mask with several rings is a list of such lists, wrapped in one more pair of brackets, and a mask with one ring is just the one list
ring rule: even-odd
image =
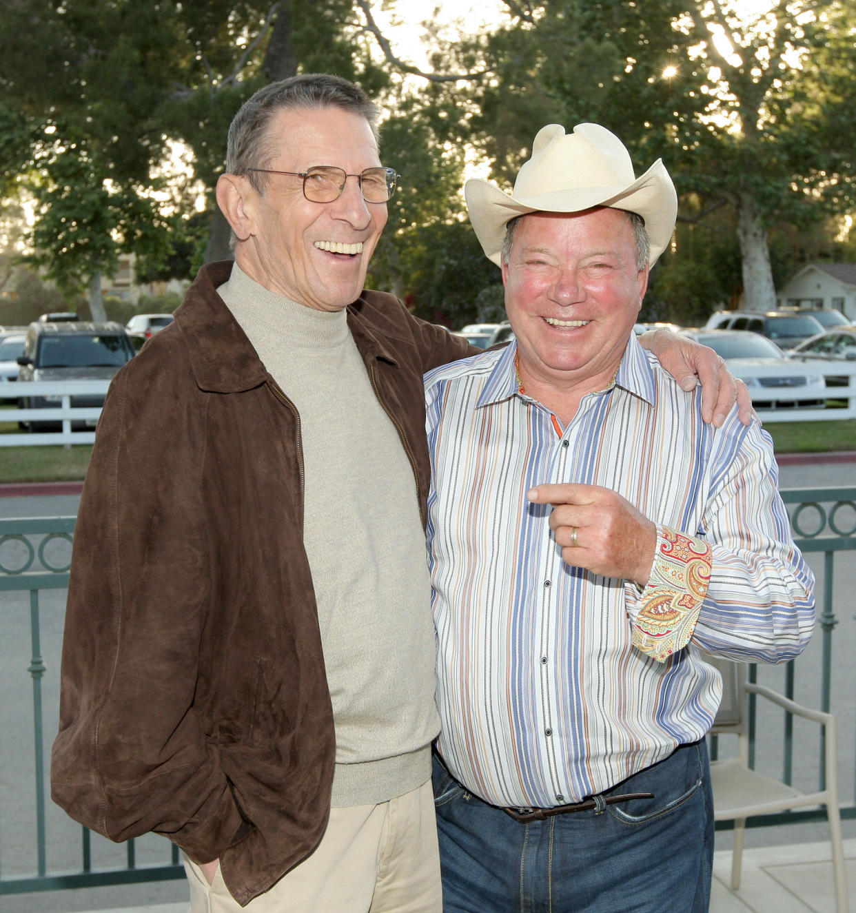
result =
[{"label": "dark green tree at upper left, behind the head of the man in glasses", "polygon": [[[155,202],[156,173],[169,141],[192,151],[209,212],[222,171],[229,121],[242,100],[270,79],[329,69],[376,88],[380,71],[361,58],[350,0],[309,5],[212,0],[17,0],[4,5],[0,142],[7,180],[29,175],[39,199],[35,240],[62,241],[39,257],[62,281],[110,271],[115,254],[138,253],[168,223]],[[14,140],[14,142],[12,142]],[[84,198],[73,199],[82,190]],[[198,188],[196,189],[198,193]],[[75,214],[71,210],[75,210]],[[218,214],[217,214],[218,215]],[[148,229],[144,223],[148,220]],[[230,256],[215,222],[212,257]],[[165,256],[165,255],[164,255]]]}]

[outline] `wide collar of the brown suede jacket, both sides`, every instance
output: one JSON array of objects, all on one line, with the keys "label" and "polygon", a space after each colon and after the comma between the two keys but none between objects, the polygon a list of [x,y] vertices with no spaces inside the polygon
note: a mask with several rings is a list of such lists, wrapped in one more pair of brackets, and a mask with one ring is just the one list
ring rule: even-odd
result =
[{"label": "wide collar of the brown suede jacket, both sides", "polygon": [[[230,260],[206,264],[175,310],[196,384],[210,393],[240,393],[269,380],[247,334],[217,294],[217,287],[227,282],[231,271]],[[397,364],[390,345],[395,339],[382,332],[381,314],[368,299],[372,294],[364,293],[348,306],[348,326],[365,361],[380,358]]]}]

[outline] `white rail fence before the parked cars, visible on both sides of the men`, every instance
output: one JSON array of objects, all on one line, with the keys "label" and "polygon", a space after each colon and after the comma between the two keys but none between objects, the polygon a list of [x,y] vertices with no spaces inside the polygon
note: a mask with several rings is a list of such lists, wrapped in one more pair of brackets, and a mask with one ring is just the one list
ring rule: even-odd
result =
[{"label": "white rail fence before the parked cars, visible on both sides of the men", "polygon": [[[830,402],[840,404],[825,409],[759,409],[765,422],[829,422],[835,419],[856,418],[856,362],[814,362],[827,377]],[[842,386],[829,386],[836,378]],[[31,446],[41,444],[91,444],[95,440],[95,425],[101,414],[100,406],[71,404],[72,396],[103,396],[110,381],[25,381],[0,384],[0,404],[12,401],[14,408],[0,409],[2,422],[62,422],[61,431],[35,431],[27,434],[0,435],[0,446]],[[772,391],[756,390],[757,398]],[[44,409],[20,409],[17,402],[36,396],[58,397],[56,406]],[[72,430],[72,423],[78,425]],[[80,427],[83,425],[83,427]],[[854,441],[856,446],[856,441]]]}]

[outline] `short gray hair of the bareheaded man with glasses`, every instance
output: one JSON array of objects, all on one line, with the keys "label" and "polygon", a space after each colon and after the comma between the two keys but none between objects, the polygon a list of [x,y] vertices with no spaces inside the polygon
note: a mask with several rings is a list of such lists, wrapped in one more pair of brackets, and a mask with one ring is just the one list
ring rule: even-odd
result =
[{"label": "short gray hair of the bareheaded man with glasses", "polygon": [[280,110],[323,108],[338,108],[365,118],[377,142],[380,112],[363,89],[329,73],[303,73],[271,82],[241,105],[229,126],[227,173],[246,174],[253,188],[263,194],[269,176],[248,169],[265,167],[276,153],[274,138],[268,136],[270,121]]}]

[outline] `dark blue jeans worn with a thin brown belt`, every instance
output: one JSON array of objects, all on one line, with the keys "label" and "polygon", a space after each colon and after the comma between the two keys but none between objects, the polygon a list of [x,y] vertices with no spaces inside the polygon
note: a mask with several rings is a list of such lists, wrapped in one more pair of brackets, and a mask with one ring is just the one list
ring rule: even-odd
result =
[{"label": "dark blue jeans worn with a thin brown belt", "polygon": [[683,745],[604,792],[653,799],[522,824],[434,758],[444,913],[704,913],[713,868],[707,746]]}]

